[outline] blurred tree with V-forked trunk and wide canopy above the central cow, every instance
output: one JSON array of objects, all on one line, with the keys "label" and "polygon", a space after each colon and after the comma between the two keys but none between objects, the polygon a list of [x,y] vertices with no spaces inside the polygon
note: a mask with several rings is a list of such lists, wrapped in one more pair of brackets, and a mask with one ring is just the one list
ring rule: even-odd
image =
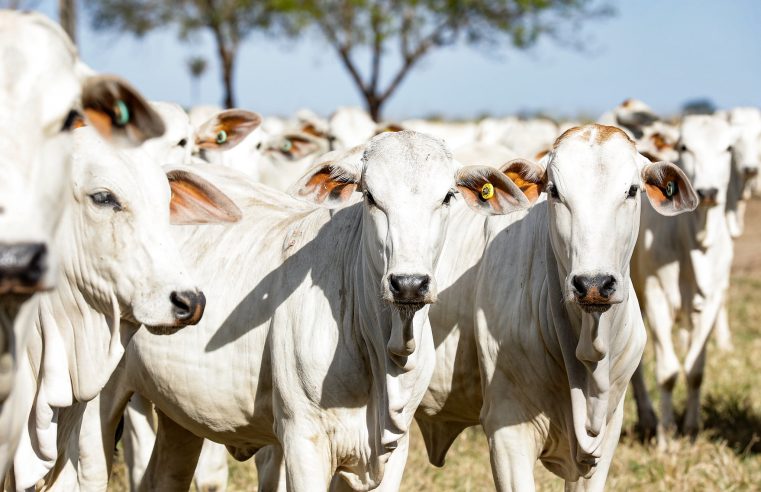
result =
[{"label": "blurred tree with V-forked trunk and wide canopy above the central cow", "polygon": [[[504,40],[527,48],[543,36],[561,39],[563,26],[610,13],[596,0],[282,0],[278,6],[291,30],[311,27],[325,38],[376,121],[410,70],[437,48],[460,41],[497,48]],[[383,58],[392,51],[400,63],[384,78]]]}]

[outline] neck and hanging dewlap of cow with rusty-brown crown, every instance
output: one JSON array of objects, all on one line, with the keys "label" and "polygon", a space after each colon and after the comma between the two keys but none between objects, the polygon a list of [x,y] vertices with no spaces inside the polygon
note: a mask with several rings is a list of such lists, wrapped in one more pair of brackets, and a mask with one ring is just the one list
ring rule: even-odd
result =
[{"label": "neck and hanging dewlap of cow with rusty-brown crown", "polygon": [[[587,313],[575,303],[566,302],[561,279],[562,271],[546,236],[547,284],[549,318],[557,336],[563,356],[571,399],[573,435],[569,434],[571,453],[582,476],[587,476],[602,456],[609,414],[623,396],[619,388],[611,394],[611,383],[621,375],[616,369],[614,355],[621,354],[629,341],[627,306],[628,293],[623,302],[604,313]],[[628,275],[626,280],[628,282]],[[611,405],[610,402],[613,402]]]}]

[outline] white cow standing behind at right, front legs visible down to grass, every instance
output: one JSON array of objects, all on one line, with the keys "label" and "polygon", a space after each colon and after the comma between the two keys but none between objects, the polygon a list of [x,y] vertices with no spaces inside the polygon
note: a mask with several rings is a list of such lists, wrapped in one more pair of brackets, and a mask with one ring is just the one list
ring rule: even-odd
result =
[{"label": "white cow standing behind at right, front legs visible down to grass", "polygon": [[[643,210],[632,279],[655,344],[661,445],[674,429],[672,391],[682,367],[687,379],[685,432],[694,435],[700,423],[706,340],[725,301],[732,263],[725,214],[732,133],[717,116],[686,116],[678,145],[679,164],[697,190],[700,205],[694,213],[671,220],[649,207]],[[677,323],[689,332],[683,364],[671,338]],[[646,433],[653,433],[656,418],[641,370],[634,378],[634,391],[640,424]]]}]

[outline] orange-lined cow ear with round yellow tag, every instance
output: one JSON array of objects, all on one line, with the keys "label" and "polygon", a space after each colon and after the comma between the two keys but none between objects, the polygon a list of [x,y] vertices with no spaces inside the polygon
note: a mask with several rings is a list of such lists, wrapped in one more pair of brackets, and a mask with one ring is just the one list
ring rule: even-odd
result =
[{"label": "orange-lined cow ear with round yellow tag", "polygon": [[465,203],[483,215],[504,215],[531,206],[515,183],[490,166],[462,167],[457,170],[455,183]]}]

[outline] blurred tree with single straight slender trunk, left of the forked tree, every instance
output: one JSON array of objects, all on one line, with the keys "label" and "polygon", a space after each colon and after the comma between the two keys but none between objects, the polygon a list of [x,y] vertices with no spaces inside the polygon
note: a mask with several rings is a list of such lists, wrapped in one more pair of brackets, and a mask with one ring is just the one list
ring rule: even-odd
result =
[{"label": "blurred tree with single straight slender trunk, left of the forked tree", "polygon": [[266,0],[92,0],[87,2],[96,29],[116,28],[141,37],[176,25],[180,38],[208,31],[216,45],[225,107],[235,106],[235,59],[241,42],[270,22]]}]

